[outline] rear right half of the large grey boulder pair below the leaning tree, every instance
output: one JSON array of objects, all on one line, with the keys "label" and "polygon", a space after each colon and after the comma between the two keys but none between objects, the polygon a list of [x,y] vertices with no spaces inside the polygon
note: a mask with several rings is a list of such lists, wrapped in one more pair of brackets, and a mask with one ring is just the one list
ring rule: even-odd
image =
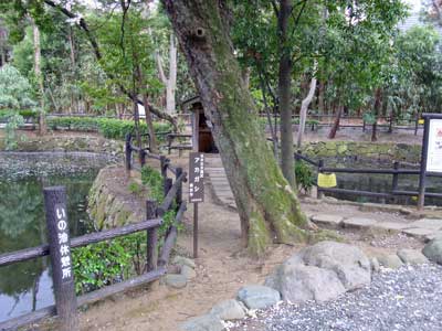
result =
[{"label": "rear right half of the large grey boulder pair below the leaning tree", "polygon": [[301,259],[305,265],[336,273],[346,290],[364,287],[371,281],[370,261],[356,246],[320,242],[302,249],[294,257],[295,260]]}]

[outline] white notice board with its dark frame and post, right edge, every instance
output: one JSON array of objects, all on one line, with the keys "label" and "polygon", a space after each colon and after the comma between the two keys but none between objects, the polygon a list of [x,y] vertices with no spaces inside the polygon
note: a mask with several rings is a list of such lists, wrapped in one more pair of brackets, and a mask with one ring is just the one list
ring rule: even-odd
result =
[{"label": "white notice board with its dark frame and post, right edge", "polygon": [[425,204],[425,178],[428,173],[442,173],[442,115],[423,114],[421,172],[419,178],[418,209]]}]

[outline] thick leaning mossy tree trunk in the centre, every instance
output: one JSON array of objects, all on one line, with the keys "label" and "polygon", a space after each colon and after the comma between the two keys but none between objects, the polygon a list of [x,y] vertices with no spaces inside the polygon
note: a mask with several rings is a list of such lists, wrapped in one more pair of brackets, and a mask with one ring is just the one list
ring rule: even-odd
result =
[{"label": "thick leaning mossy tree trunk in the centre", "polygon": [[262,255],[273,241],[304,241],[309,223],[256,120],[257,111],[233,55],[225,3],[218,0],[162,0],[162,3],[212,126],[250,252]]}]

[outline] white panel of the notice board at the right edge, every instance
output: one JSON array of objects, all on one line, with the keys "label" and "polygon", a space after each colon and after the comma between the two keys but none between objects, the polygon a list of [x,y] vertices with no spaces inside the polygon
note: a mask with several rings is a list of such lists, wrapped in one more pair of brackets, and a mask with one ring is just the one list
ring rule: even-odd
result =
[{"label": "white panel of the notice board at the right edge", "polygon": [[427,171],[442,172],[442,119],[430,120]]}]

